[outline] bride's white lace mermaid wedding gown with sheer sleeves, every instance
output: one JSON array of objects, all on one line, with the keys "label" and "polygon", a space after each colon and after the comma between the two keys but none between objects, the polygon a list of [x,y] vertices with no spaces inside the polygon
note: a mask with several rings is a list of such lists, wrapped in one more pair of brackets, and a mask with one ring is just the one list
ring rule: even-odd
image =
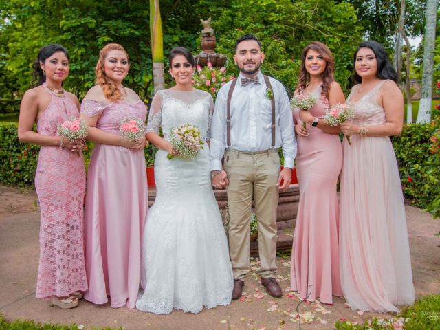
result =
[{"label": "bride's white lace mermaid wedding gown with sheer sleeves", "polygon": [[[164,138],[181,124],[209,135],[212,97],[205,91],[159,91],[151,104],[147,131]],[[196,159],[166,158],[157,151],[157,196],[148,210],[142,238],[142,280],[136,308],[168,314],[173,308],[198,313],[231,301],[233,276],[228,241],[212,192],[209,148]]]}]

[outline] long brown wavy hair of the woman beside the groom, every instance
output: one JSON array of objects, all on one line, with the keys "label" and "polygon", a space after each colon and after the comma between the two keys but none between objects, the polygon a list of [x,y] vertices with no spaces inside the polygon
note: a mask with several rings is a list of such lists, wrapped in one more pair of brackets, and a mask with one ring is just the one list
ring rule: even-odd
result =
[{"label": "long brown wavy hair of the woman beside the groom", "polygon": [[314,41],[313,43],[310,43],[307,45],[303,53],[301,54],[301,69],[299,74],[299,81],[298,81],[298,91],[303,91],[307,84],[310,82],[310,74],[305,69],[305,58],[307,56],[307,52],[309,50],[314,50],[315,52],[318,52],[325,60],[326,66],[324,72],[322,72],[322,91],[321,94],[325,96],[327,99],[329,98],[329,88],[330,84],[335,81],[335,60],[333,59],[333,55],[331,54],[331,51],[329,50],[329,47],[325,45],[324,43],[320,43],[319,41]]}]

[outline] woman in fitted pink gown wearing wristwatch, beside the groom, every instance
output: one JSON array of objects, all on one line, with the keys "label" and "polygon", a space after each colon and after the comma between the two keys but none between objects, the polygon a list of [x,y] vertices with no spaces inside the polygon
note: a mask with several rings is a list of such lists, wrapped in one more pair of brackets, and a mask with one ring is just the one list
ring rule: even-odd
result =
[{"label": "woman in fitted pink gown wearing wristwatch, beside the groom", "polygon": [[344,94],[334,80],[335,62],[326,45],[317,41],[307,45],[302,58],[295,93],[314,94],[318,102],[310,111],[294,111],[300,202],[292,248],[291,288],[303,299],[314,301],[319,297],[322,303],[331,304],[333,296],[342,296],[336,195],[342,145],[340,128],[329,126],[322,118],[331,105],[344,102]]}]

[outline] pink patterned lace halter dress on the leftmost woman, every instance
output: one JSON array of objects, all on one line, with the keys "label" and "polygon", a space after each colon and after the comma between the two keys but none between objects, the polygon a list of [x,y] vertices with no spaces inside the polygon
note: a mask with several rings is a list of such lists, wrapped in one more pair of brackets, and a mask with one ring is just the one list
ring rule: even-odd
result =
[{"label": "pink patterned lace halter dress on the leftmost woman", "polygon": [[[47,89],[52,100],[36,124],[41,135],[56,135],[58,125],[78,118],[75,102]],[[87,289],[83,250],[85,170],[78,157],[59,146],[42,146],[35,174],[41,208],[40,263],[36,298],[69,296]]]}]

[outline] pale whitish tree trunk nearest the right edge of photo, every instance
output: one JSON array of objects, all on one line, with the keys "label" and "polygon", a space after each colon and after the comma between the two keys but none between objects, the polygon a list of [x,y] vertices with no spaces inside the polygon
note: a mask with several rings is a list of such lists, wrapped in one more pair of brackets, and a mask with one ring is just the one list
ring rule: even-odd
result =
[{"label": "pale whitish tree trunk nearest the right edge of photo", "polygon": [[432,67],[434,65],[435,25],[437,23],[437,0],[426,1],[425,48],[423,50],[423,76],[421,100],[417,122],[430,122],[432,103]]}]

